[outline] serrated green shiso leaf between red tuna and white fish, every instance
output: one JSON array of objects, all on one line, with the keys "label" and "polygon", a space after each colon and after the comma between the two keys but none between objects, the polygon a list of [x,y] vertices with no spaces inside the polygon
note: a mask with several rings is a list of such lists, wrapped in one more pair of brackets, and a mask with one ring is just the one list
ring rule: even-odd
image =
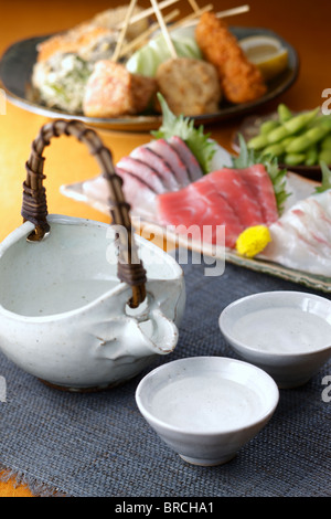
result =
[{"label": "serrated green shiso leaf between red tuna and white fish", "polygon": [[238,136],[241,152],[238,157],[233,158],[234,168],[243,169],[249,168],[250,166],[261,163],[266,171],[268,172],[270,180],[274,186],[274,192],[277,202],[278,214],[281,214],[284,211],[284,203],[286,199],[290,195],[286,191],[286,169],[280,169],[278,165],[277,157],[274,156],[264,156],[263,153],[248,149],[246,141],[242,135]]}]

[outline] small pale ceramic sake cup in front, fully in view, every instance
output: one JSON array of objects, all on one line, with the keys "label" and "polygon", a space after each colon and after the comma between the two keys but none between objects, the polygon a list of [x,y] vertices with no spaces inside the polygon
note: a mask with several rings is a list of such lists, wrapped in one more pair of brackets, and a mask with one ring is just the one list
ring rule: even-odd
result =
[{"label": "small pale ceramic sake cup in front, fully in view", "polygon": [[204,466],[229,462],[268,423],[278,400],[265,371],[225,357],[163,363],[136,390],[138,409],[160,438]]}]

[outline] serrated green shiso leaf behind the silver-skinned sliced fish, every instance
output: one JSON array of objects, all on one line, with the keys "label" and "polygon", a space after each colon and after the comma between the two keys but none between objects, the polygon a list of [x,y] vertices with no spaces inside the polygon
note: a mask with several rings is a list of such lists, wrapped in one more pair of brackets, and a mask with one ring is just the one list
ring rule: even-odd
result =
[{"label": "serrated green shiso leaf behind the silver-skinned sliced fish", "polygon": [[216,152],[215,145],[209,140],[211,134],[204,134],[203,126],[194,127],[194,120],[183,115],[175,116],[169,108],[164,97],[158,93],[158,99],[162,108],[162,125],[158,130],[151,131],[157,139],[169,139],[177,135],[195,156],[204,173],[211,170],[211,162]]}]

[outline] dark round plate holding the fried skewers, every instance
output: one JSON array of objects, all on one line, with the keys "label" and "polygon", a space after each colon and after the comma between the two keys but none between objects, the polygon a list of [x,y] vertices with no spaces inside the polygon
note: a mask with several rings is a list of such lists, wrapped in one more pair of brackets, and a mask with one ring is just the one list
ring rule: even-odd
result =
[{"label": "dark round plate holding the fried skewers", "polygon": [[[257,100],[242,105],[222,103],[220,110],[193,117],[197,124],[212,124],[229,119],[238,115],[254,112],[258,106],[275,99],[287,91],[298,77],[299,59],[296,50],[281,36],[267,29],[256,28],[231,28],[238,40],[254,35],[269,35],[277,38],[288,50],[288,67],[284,73],[268,83],[268,92]],[[0,62],[0,80],[6,91],[7,98],[12,104],[50,118],[79,119],[84,123],[99,128],[125,131],[147,131],[159,128],[161,117],[157,115],[124,116],[118,118],[93,118],[73,115],[49,108],[35,102],[29,100],[29,86],[33,65],[36,61],[36,45],[47,36],[36,36],[13,43],[3,54]]]}]

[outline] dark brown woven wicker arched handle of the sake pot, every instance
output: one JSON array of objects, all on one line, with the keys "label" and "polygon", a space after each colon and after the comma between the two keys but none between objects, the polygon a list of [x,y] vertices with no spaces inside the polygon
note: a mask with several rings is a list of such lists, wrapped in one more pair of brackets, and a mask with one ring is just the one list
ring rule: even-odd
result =
[{"label": "dark brown woven wicker arched handle of the sake pot", "polygon": [[32,142],[31,155],[25,165],[26,180],[23,182],[23,203],[21,214],[24,221],[35,225],[34,232],[29,236],[30,241],[41,241],[50,232],[47,223],[46,190],[43,187],[45,176],[42,153],[51,144],[53,137],[62,135],[75,136],[84,142],[89,152],[98,161],[104,177],[109,184],[109,205],[113,216],[111,223],[121,226],[126,232],[118,234],[119,254],[117,275],[121,282],[131,286],[131,307],[139,306],[146,297],[146,271],[138,257],[137,247],[129,215],[130,205],[126,202],[122,193],[122,180],[116,174],[111,152],[106,148],[99,136],[92,128],[86,127],[79,120],[56,119],[44,125],[35,140]]}]

